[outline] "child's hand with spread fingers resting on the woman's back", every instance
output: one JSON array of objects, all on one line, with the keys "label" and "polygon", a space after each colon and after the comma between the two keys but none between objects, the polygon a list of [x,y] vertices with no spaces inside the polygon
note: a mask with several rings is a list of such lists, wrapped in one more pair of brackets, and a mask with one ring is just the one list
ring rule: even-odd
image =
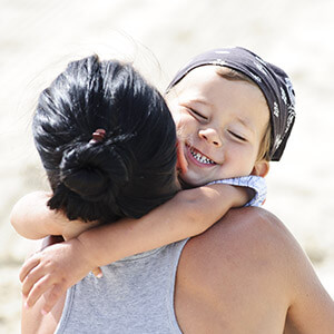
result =
[{"label": "child's hand with spread fingers resting on the woman's back", "polygon": [[86,256],[82,244],[73,238],[51,245],[33,254],[20,271],[22,294],[27,296],[26,307],[31,307],[46,293],[42,313],[47,314],[60,296],[82,279],[94,265]]}]

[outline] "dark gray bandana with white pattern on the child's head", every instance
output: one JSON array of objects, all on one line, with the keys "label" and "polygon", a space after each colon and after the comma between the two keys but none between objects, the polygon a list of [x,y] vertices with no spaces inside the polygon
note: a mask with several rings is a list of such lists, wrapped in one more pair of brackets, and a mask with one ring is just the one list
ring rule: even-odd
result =
[{"label": "dark gray bandana with white pattern on the child's head", "polygon": [[169,84],[167,91],[199,66],[225,66],[249,77],[262,90],[271,110],[271,160],[278,161],[295,121],[295,92],[287,75],[278,67],[244,48],[215,49],[193,58]]}]

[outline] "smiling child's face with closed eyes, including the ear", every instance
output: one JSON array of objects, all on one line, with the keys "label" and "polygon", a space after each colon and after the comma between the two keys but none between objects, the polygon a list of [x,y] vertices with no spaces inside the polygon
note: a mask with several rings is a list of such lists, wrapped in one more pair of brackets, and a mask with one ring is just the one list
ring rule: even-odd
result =
[{"label": "smiling child's face with closed eyes, including the ear", "polygon": [[256,161],[269,121],[259,88],[223,78],[215,66],[191,70],[167,95],[177,127],[181,179],[199,186],[222,178],[265,176]]}]

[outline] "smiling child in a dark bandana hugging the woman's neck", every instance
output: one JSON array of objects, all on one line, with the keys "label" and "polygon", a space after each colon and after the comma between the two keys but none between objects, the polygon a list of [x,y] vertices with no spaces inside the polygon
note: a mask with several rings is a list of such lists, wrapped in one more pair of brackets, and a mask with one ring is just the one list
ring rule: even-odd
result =
[{"label": "smiling child in a dark bandana hugging the woman's neck", "polygon": [[[82,234],[94,224],[70,224],[60,213],[47,210],[43,194],[28,197],[12,216],[23,236],[73,238],[27,261],[20,273],[27,305],[52,287],[43,306],[48,313],[92,268],[203,233],[226,212],[220,202],[228,195],[213,181],[262,194],[263,185],[256,185],[261,178],[253,176],[264,177],[268,161],[279,160],[295,116],[292,86],[281,69],[242,48],[209,51],[179,71],[167,101],[178,130],[180,183],[185,188],[210,186],[180,191],[139,220],[124,219]],[[29,200],[39,203],[31,214]]]}]

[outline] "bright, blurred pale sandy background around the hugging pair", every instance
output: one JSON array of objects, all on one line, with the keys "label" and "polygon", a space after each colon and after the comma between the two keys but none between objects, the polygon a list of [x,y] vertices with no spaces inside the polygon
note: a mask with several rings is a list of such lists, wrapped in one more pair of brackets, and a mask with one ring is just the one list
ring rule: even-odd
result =
[{"label": "bright, blurred pale sandy background around the hugging pair", "polygon": [[266,208],[334,296],[333,12],[330,0],[0,0],[0,333],[19,333],[18,271],[29,246],[9,213],[45,187],[30,135],[33,105],[70,59],[92,52],[135,60],[161,89],[191,56],[224,46],[247,47],[291,75],[297,120],[267,177]]}]

